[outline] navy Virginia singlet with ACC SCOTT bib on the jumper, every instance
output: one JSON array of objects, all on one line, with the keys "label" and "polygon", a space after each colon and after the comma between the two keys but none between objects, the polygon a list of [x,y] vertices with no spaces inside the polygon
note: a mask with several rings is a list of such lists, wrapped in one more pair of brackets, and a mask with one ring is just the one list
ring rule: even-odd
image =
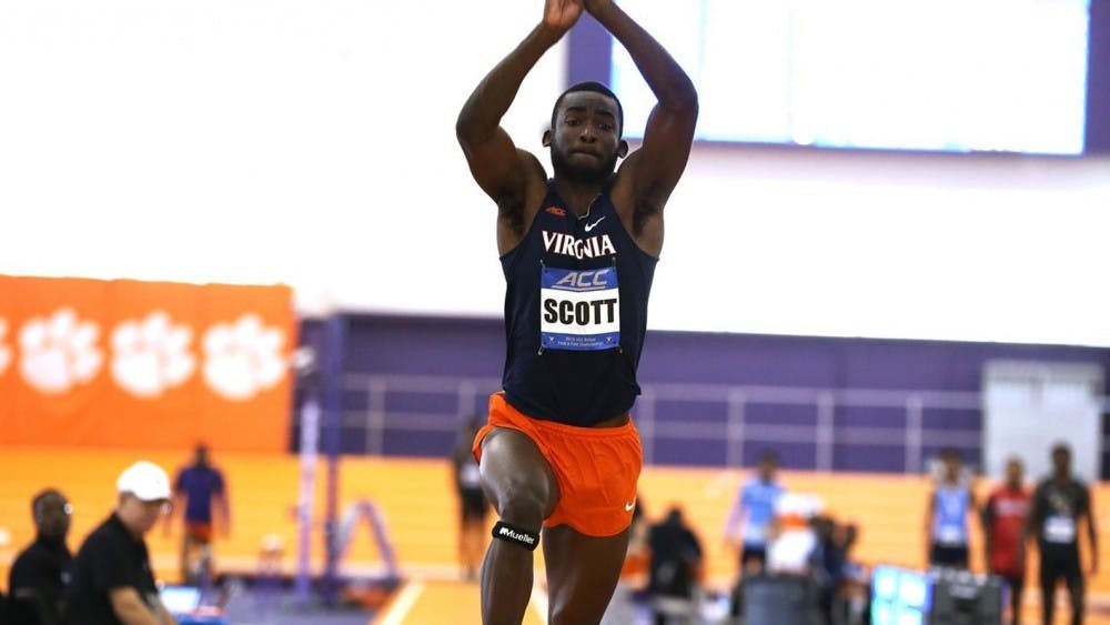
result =
[{"label": "navy Virginia singlet with ACC SCOTT bib on the jumper", "polygon": [[548,181],[528,233],[501,258],[508,403],[579,426],[628,411],[656,261],[625,231],[607,189],[576,218]]}]

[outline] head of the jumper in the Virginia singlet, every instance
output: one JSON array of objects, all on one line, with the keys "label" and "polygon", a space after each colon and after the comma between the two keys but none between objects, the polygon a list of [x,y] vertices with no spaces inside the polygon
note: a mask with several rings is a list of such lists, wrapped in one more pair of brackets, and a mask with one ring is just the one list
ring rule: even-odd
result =
[{"label": "head of the jumper in the Virginia singlet", "polygon": [[574,91],[563,97],[554,128],[544,133],[552,150],[555,175],[574,182],[604,181],[628,152],[620,139],[622,120],[613,98],[595,91]]}]

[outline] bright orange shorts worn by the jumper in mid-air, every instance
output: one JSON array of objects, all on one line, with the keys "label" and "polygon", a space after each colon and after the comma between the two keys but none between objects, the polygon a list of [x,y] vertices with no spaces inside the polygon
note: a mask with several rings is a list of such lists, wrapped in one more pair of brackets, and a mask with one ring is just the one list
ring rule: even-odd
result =
[{"label": "bright orange shorts worn by the jumper in mid-air", "polygon": [[569,525],[587,536],[602,537],[619,534],[632,524],[644,451],[630,420],[618,427],[542,421],[511,406],[504,393],[494,393],[490,396],[490,421],[474,436],[478,462],[482,441],[495,427],[527,435],[551,465],[559,500],[544,525]]}]

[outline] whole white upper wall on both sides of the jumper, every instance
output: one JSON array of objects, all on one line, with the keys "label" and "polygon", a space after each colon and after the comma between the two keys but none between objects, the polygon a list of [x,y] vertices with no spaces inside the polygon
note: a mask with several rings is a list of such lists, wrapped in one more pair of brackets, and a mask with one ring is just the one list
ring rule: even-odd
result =
[{"label": "whole white upper wall on both sides of the jumper", "polygon": [[[2,2],[0,273],[498,315],[453,124],[542,4]],[[522,147],[563,52],[506,119]],[[1108,159],[698,147],[667,211],[655,327],[1110,345]]]}]

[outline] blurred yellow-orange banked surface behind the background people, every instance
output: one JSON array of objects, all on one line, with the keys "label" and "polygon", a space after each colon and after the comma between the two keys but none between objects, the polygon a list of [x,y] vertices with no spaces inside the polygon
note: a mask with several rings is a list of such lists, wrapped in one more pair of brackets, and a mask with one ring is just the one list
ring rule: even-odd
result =
[{"label": "blurred yellow-orange banked surface behind the background people", "polygon": [[[56,486],[74,504],[70,544],[81,538],[110,512],[114,502],[114,481],[130,462],[148,457],[173,468],[188,460],[188,453],[151,453],[90,450],[0,448],[6,477],[0,482],[0,587],[7,585],[7,568],[14,553],[31,540],[29,511],[31,496],[39,488]],[[282,566],[294,568],[296,553],[295,505],[300,466],[287,455],[231,454],[213,452],[213,458],[228,474],[234,515],[232,533],[216,543],[218,564],[224,569],[250,573],[259,562],[259,547],[265,536],[276,536],[285,545]],[[324,465],[316,475],[315,515],[323,510]],[[646,467],[640,481],[640,502],[649,518],[657,518],[675,503],[685,510],[698,530],[707,553],[707,584],[724,587],[734,574],[734,554],[722,540],[722,527],[733,496],[745,476],[740,471]],[[819,495],[837,518],[854,521],[861,527],[855,556],[867,563],[894,563],[921,566],[925,545],[921,540],[928,481],[918,476],[871,474],[815,474],[784,472],[781,481],[795,492]],[[987,485],[982,485],[986,487]],[[1110,501],[1110,485],[1097,485],[1094,502]],[[441,583],[457,577],[455,541],[456,504],[451,490],[446,460],[385,460],[351,457],[341,464],[340,510],[359,501],[372,501],[381,510],[391,541],[395,545],[402,573],[424,583],[414,605],[423,606],[440,594]],[[1102,562],[1107,558],[1110,536],[1098,514]],[[312,540],[316,569],[322,562],[321,532]],[[176,578],[178,527],[169,534],[161,528],[149,537],[158,573]],[[972,567],[981,568],[978,535],[972,537]],[[365,525],[357,528],[346,564],[347,571],[374,571],[381,557]],[[1110,598],[1110,573],[1104,566],[1090,581],[1092,603]],[[454,595],[452,585],[446,593]],[[461,592],[465,595],[468,587]],[[423,598],[422,598],[423,597]],[[447,604],[452,602],[448,599]],[[415,609],[415,607],[414,607]],[[1064,611],[1066,612],[1066,611]],[[413,613],[418,614],[418,613]],[[462,623],[453,619],[452,622]],[[1096,623],[1088,619],[1089,623]],[[420,623],[420,621],[405,621]],[[1110,621],[1108,621],[1110,623]]]}]

